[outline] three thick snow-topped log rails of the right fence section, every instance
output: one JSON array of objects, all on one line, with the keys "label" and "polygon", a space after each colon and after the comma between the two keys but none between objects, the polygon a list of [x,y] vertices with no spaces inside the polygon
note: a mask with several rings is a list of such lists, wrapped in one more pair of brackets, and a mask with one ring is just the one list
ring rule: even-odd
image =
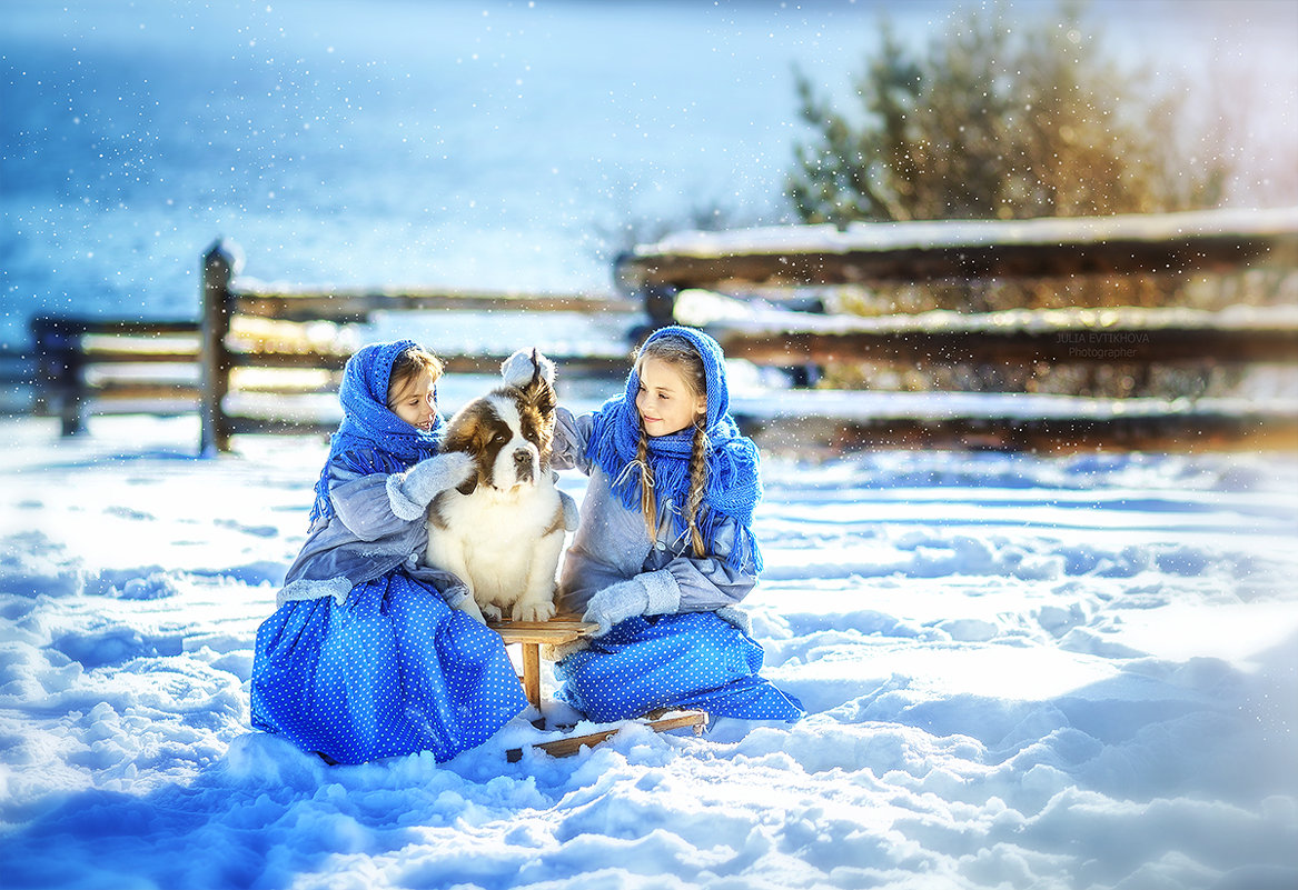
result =
[{"label": "three thick snow-topped log rails of the right fence section", "polygon": [[[809,301],[807,289],[888,283],[1224,275],[1298,271],[1298,208],[1032,221],[870,223],[684,232],[620,258],[618,279],[653,323],[678,319],[691,288]],[[1114,306],[929,311],[877,318],[807,311],[718,313],[702,324],[733,358],[802,367],[1140,365],[1211,362],[1298,371],[1298,306],[1227,311]],[[772,391],[732,400],[741,426],[772,441],[1015,449],[1298,448],[1298,402],[1083,398],[1045,393]]]}]

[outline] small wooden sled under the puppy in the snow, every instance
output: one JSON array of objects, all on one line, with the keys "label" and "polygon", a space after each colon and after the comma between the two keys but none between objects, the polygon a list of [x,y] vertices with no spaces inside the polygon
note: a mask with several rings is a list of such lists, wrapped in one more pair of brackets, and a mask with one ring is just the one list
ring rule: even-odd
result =
[{"label": "small wooden sled under the puppy in the snow", "polygon": [[[505,645],[519,643],[523,650],[523,673],[519,682],[523,684],[523,694],[537,711],[541,710],[541,646],[561,646],[574,642],[596,631],[598,624],[587,624],[574,615],[557,615],[549,621],[488,621],[487,627],[501,636]],[[657,733],[672,729],[692,728],[696,736],[701,736],[707,727],[707,714],[697,710],[665,708],[654,711],[636,720],[623,720],[617,725],[583,736],[567,736],[550,742],[540,742],[528,747],[545,751],[550,756],[566,758],[579,752],[583,747],[593,747],[605,742],[628,723],[637,723],[653,729]],[[523,759],[523,749],[515,747],[505,752],[509,763],[518,763]]]}]

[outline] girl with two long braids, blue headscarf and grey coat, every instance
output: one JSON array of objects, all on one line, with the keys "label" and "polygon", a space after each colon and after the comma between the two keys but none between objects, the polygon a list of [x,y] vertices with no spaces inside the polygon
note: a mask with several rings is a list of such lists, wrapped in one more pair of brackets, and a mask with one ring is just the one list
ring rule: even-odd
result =
[{"label": "girl with two long braids, blue headscarf and grey coat", "polygon": [[[530,372],[511,357],[506,383]],[[654,332],[626,392],[580,418],[559,407],[552,466],[591,481],[559,580],[561,612],[600,629],[561,654],[559,698],[592,720],[697,707],[797,720],[758,675],[762,649],[735,608],[757,583],[757,448],[728,413],[724,355],[685,327]]]}]

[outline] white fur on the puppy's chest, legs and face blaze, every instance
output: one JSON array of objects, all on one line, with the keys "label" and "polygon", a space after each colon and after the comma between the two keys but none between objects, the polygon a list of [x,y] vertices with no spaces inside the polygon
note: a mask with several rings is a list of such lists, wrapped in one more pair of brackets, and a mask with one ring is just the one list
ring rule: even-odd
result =
[{"label": "white fur on the puppy's chest, legs and face blaze", "polygon": [[[559,493],[552,474],[541,471],[536,446],[520,432],[514,401],[498,393],[485,398],[513,433],[496,457],[496,484],[478,485],[467,496],[454,488],[437,496],[448,528],[428,523],[424,562],[469,585],[471,595],[461,608],[478,620],[545,621],[554,616],[554,577],[563,551]],[[515,454],[530,458],[531,479],[519,481]]]}]

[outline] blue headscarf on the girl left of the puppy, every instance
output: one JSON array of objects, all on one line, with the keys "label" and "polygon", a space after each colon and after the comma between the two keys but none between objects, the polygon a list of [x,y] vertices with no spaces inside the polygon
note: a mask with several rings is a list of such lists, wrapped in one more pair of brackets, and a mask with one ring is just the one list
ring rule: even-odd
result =
[{"label": "blue headscarf on the girl left of the puppy", "polygon": [[[334,515],[328,499],[330,464],[340,455],[371,451],[380,463],[391,463],[395,472],[406,470],[437,453],[441,415],[434,413],[432,429],[419,429],[406,423],[388,407],[388,381],[392,365],[408,349],[419,349],[414,340],[375,343],[362,346],[347,359],[339,400],[343,402],[343,422],[330,439],[328,461],[315,483],[315,505],[312,522]],[[382,461],[389,458],[389,461]],[[374,459],[366,463],[375,463]]]}]

